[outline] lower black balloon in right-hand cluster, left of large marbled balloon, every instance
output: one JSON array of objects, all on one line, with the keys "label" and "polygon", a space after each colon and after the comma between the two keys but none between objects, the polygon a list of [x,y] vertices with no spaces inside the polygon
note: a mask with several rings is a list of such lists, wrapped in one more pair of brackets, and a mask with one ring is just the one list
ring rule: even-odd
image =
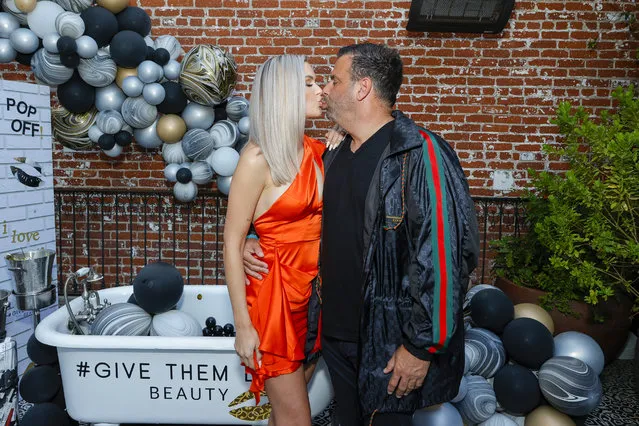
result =
[{"label": "lower black balloon in right-hand cluster, left of large marbled balloon", "polygon": [[541,404],[537,377],[521,365],[505,365],[493,382],[499,404],[511,414],[525,416]]}]

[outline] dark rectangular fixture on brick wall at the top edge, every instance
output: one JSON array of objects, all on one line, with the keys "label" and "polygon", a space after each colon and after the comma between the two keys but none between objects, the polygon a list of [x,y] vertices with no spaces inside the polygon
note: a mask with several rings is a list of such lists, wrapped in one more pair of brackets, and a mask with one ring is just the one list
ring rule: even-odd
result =
[{"label": "dark rectangular fixture on brick wall at the top edge", "polygon": [[413,0],[408,31],[498,33],[515,0]]}]

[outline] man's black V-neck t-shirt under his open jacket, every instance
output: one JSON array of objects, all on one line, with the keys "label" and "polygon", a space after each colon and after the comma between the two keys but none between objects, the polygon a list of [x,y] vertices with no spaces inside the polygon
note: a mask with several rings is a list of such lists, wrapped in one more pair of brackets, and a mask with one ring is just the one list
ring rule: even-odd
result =
[{"label": "man's black V-neck t-shirt under his open jacket", "polygon": [[328,337],[358,340],[366,195],[392,130],[390,121],[356,152],[347,139],[326,173],[321,273],[322,328]]}]

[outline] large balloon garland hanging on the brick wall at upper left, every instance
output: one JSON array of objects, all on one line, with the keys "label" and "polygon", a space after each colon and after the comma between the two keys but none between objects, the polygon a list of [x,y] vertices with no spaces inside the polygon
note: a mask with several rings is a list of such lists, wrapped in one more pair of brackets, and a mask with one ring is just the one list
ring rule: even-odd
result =
[{"label": "large balloon garland hanging on the brick wall at upper left", "polygon": [[97,146],[118,157],[135,140],[162,147],[165,176],[183,202],[217,176],[228,194],[248,139],[248,101],[230,97],[233,56],[218,46],[183,50],[150,37],[151,19],[125,0],[3,0],[0,63],[31,66],[57,86],[54,136],[71,149]]}]

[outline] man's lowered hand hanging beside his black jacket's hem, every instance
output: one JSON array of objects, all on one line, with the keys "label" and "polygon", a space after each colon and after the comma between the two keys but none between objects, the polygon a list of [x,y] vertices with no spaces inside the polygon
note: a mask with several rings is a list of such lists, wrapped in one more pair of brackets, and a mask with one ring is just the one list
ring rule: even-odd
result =
[{"label": "man's lowered hand hanging beside his black jacket's hem", "polygon": [[395,392],[395,396],[401,398],[421,388],[429,367],[430,361],[422,361],[400,346],[384,368],[384,374],[393,373],[388,382],[388,394]]}]

